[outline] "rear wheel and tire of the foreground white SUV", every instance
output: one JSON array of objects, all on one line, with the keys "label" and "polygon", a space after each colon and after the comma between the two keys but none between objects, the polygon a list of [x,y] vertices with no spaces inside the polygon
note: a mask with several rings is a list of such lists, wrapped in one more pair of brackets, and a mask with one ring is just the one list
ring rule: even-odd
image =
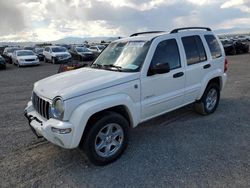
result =
[{"label": "rear wheel and tire of the foreground white SUV", "polygon": [[220,88],[218,84],[211,83],[207,86],[201,99],[194,104],[195,111],[202,115],[212,114],[220,101]]}]

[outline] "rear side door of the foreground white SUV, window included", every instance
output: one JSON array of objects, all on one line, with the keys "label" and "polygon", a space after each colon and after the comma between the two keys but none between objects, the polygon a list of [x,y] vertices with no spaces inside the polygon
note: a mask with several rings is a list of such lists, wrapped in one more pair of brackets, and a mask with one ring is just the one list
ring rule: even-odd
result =
[{"label": "rear side door of the foreground white SUV, window included", "polygon": [[185,52],[186,63],[186,85],[184,103],[188,104],[195,101],[200,94],[202,80],[211,69],[208,60],[204,39],[199,35],[181,37]]}]

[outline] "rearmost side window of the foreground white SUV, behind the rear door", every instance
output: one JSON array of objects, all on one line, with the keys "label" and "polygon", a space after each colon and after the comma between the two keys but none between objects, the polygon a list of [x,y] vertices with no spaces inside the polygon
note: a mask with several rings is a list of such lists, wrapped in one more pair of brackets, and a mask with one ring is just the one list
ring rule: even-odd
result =
[{"label": "rearmost side window of the foreground white SUV, behind the rear door", "polygon": [[212,58],[218,58],[222,56],[220,45],[214,35],[205,35],[205,39],[209,46]]}]

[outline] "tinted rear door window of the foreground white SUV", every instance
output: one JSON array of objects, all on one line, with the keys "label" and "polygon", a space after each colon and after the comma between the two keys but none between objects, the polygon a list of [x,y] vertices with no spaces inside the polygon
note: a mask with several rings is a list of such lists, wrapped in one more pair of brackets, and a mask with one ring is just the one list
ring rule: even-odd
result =
[{"label": "tinted rear door window of the foreground white SUV", "polygon": [[181,38],[187,64],[193,65],[207,60],[206,52],[199,36],[187,36]]}]

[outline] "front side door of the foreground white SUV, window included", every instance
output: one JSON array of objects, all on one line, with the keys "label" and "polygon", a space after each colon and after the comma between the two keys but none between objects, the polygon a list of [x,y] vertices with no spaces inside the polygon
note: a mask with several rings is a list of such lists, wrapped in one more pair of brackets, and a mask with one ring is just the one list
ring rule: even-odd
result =
[{"label": "front side door of the foreground white SUV, window included", "polygon": [[[170,72],[150,73],[150,67],[164,63],[169,63]],[[154,50],[148,73],[141,80],[142,120],[150,119],[182,105],[185,87],[184,70],[176,39],[168,37],[159,41]]]}]

